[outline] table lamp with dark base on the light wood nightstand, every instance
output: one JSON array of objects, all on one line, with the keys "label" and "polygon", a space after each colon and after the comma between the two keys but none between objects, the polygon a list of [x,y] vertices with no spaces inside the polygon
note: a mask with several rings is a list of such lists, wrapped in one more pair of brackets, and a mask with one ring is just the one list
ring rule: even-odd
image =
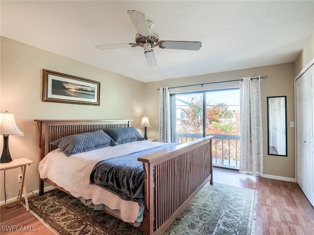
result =
[{"label": "table lamp with dark base on the light wood nightstand", "polygon": [[0,163],[12,162],[9,151],[9,136],[23,136],[24,133],[17,127],[14,114],[4,111],[0,113],[0,136],[3,136],[3,150]]}]

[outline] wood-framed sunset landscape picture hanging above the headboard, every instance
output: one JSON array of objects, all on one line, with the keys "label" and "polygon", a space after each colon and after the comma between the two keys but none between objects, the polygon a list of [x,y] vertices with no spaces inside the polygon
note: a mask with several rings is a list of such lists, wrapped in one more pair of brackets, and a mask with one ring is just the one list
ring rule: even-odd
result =
[{"label": "wood-framed sunset landscape picture hanging above the headboard", "polygon": [[100,105],[100,82],[43,70],[43,101]]}]

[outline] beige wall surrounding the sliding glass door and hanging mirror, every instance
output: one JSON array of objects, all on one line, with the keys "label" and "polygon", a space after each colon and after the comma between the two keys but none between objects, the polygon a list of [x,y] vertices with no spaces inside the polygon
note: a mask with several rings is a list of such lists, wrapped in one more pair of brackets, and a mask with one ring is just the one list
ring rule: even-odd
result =
[{"label": "beige wall surrounding the sliding glass door and hanging mirror", "polygon": [[[294,128],[288,125],[288,157],[277,157],[267,155],[267,96],[287,95],[287,120],[288,123],[294,119],[293,102],[293,76],[294,63],[264,66],[245,70],[226,71],[211,73],[193,77],[183,77],[178,79],[168,79],[159,82],[145,84],[145,114],[150,120],[158,120],[158,99],[157,88],[168,86],[183,86],[200,84],[214,81],[235,80],[242,77],[267,75],[267,79],[262,79],[261,98],[262,98],[262,125],[263,125],[263,164],[264,174],[281,177],[294,178]],[[219,83],[204,85],[203,90],[222,89],[238,86],[238,82]],[[171,93],[181,91],[201,90],[201,86],[171,89]],[[152,124],[152,123],[151,123]],[[148,129],[149,138],[158,138],[158,127],[152,124],[153,128]]]}]

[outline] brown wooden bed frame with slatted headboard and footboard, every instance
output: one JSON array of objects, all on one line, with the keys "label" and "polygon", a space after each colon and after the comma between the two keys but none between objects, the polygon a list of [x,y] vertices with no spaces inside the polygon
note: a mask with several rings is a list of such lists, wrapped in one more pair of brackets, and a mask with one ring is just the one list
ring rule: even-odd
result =
[{"label": "brown wooden bed frame with slatted headboard and footboard", "polygon": [[[131,120],[35,121],[39,128],[40,162],[44,162],[46,156],[58,151],[56,146],[50,144],[52,141],[81,133],[131,127]],[[172,145],[137,158],[144,170],[144,208],[139,228],[145,231],[145,234],[163,234],[193,196],[208,182],[212,184],[212,138],[213,136],[207,136],[184,144]],[[149,143],[150,141],[135,142],[147,146],[158,145]],[[44,193],[44,182],[72,195],[69,190],[60,186],[61,184],[56,184],[45,177],[40,179],[40,194]],[[123,216],[114,213],[108,207],[104,211],[126,221],[121,218]],[[126,222],[134,225],[130,221]]]}]

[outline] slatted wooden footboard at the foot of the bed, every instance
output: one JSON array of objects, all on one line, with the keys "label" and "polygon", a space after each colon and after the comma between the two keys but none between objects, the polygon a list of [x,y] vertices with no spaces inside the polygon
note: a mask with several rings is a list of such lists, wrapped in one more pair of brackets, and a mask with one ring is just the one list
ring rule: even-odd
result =
[{"label": "slatted wooden footboard at the foot of the bed", "polygon": [[[145,172],[145,234],[163,234],[193,196],[212,184],[211,138],[204,137],[138,159]],[[154,187],[155,186],[155,187]]]}]

